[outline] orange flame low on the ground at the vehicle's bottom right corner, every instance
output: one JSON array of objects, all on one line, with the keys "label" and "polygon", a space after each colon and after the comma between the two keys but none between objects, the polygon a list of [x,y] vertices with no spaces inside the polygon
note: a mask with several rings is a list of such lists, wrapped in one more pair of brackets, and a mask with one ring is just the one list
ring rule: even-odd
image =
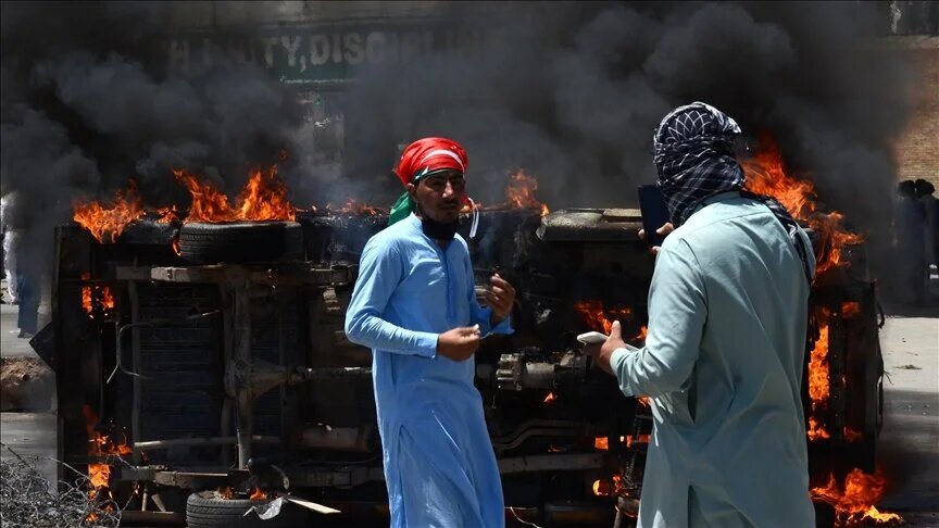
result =
[{"label": "orange flame low on the ground at the vehicle's bottom right corner", "polygon": [[830,504],[838,526],[850,526],[864,519],[876,523],[902,520],[897,514],[880,513],[874,507],[886,487],[887,481],[879,474],[867,475],[854,468],[844,477],[843,491],[839,489],[835,475],[830,474],[827,486],[812,488],[812,500]]}]

